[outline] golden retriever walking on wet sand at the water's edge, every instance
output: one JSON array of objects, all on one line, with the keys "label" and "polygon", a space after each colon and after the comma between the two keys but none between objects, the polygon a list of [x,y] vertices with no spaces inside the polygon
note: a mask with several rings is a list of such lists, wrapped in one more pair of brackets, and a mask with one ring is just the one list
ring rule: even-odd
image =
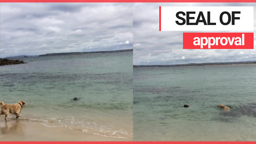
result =
[{"label": "golden retriever walking on wet sand at the water's edge", "polygon": [[19,101],[18,103],[14,104],[4,104],[4,102],[0,101],[0,106],[1,106],[1,115],[5,115],[5,121],[7,122],[7,116],[9,114],[14,114],[16,115],[16,118],[19,118],[19,114],[21,112],[21,109],[25,106],[24,101]]}]

